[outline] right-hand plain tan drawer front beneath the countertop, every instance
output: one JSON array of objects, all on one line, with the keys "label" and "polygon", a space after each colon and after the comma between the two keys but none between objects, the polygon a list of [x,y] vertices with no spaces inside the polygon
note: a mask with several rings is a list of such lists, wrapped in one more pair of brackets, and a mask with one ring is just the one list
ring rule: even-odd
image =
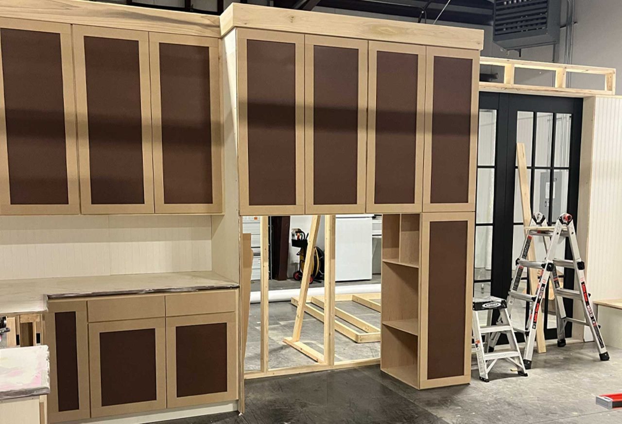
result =
[{"label": "right-hand plain tan drawer front beneath the countertop", "polygon": [[166,297],[166,316],[233,312],[236,303],[235,290],[177,293]]}]

